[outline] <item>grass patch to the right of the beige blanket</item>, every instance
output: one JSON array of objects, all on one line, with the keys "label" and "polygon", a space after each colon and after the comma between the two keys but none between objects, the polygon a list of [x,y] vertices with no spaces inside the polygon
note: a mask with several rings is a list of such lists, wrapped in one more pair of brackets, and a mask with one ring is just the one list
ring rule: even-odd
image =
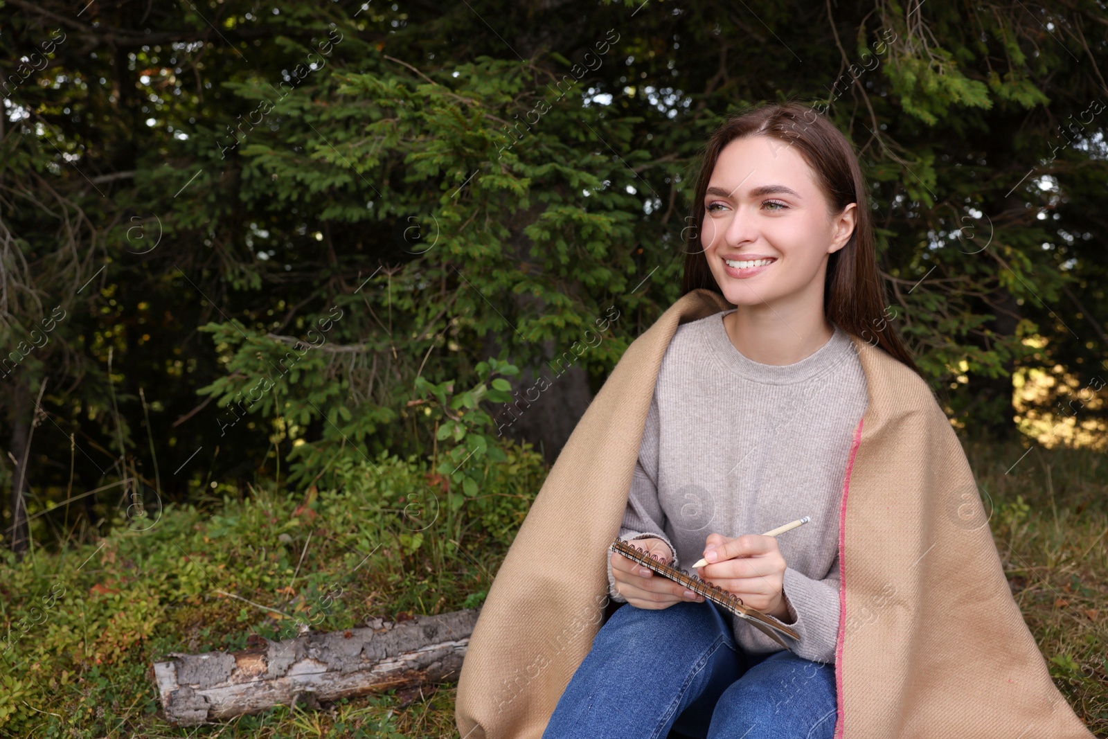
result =
[{"label": "grass patch to the right of the beige blanket", "polygon": [[1089,730],[1108,737],[1108,455],[1036,444],[1017,463],[1018,445],[979,443],[966,454],[1055,684]]}]

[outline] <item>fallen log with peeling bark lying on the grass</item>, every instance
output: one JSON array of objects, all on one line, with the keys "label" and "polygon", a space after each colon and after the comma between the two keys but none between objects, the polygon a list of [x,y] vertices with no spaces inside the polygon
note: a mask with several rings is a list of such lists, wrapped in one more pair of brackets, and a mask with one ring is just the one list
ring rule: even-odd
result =
[{"label": "fallen log with peeling bark lying on the grass", "polygon": [[309,705],[388,688],[456,680],[479,610],[306,634],[243,651],[170,653],[153,678],[174,726],[256,714],[298,697]]}]

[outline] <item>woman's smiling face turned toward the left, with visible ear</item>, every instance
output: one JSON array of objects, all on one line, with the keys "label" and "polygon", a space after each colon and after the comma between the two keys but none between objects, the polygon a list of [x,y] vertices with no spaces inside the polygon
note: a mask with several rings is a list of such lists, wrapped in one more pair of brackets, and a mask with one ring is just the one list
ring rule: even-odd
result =
[{"label": "woman's smiling face turned toward the left, with visible ear", "polygon": [[797,150],[768,136],[736,138],[719,153],[704,205],[700,243],[729,302],[822,314],[828,256],[850,239],[856,206],[829,215]]}]

